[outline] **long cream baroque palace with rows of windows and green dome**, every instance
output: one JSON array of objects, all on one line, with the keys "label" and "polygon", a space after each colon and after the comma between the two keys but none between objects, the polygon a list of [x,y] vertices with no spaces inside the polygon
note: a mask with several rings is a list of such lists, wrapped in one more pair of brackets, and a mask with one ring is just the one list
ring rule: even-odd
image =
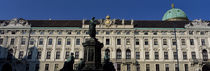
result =
[{"label": "long cream baroque palace with rows of windows and green dome", "polygon": [[[58,71],[83,58],[89,20],[0,20],[0,70]],[[162,21],[98,19],[96,38],[117,71],[201,71],[210,68],[210,23],[172,7]],[[178,54],[178,55],[177,55]],[[178,62],[177,62],[178,61]]]}]

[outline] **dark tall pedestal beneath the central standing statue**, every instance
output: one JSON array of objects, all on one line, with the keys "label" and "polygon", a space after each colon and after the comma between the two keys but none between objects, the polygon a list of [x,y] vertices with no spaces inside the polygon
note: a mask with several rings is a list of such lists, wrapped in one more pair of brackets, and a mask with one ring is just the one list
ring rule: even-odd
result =
[{"label": "dark tall pedestal beneath the central standing statue", "polygon": [[101,64],[101,48],[103,43],[100,43],[95,38],[90,38],[82,43],[84,47],[85,67],[82,71],[102,71]]}]

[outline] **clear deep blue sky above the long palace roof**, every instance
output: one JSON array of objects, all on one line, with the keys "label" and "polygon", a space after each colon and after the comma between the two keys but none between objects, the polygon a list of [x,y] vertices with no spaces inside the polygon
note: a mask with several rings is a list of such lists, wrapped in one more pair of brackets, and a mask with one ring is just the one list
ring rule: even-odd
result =
[{"label": "clear deep blue sky above the long palace roof", "polygon": [[81,20],[110,15],[112,19],[161,20],[171,3],[190,20],[210,20],[210,0],[0,0],[0,19]]}]

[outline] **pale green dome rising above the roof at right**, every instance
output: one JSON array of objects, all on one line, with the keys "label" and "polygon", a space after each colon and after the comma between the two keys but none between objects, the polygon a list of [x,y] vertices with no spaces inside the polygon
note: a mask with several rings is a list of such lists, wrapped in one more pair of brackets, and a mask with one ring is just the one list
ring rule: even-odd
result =
[{"label": "pale green dome rising above the roof at right", "polygon": [[178,8],[172,8],[168,10],[164,16],[163,16],[163,21],[170,20],[170,19],[183,19],[183,20],[188,20],[186,14],[184,11]]}]

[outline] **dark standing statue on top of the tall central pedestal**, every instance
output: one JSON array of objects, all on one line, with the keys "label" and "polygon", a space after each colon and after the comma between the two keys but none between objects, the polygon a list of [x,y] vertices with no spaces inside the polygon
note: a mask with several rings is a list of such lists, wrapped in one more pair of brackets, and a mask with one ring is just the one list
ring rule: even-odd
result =
[{"label": "dark standing statue on top of the tall central pedestal", "polygon": [[95,17],[92,18],[92,20],[90,20],[90,25],[89,25],[89,35],[91,38],[96,37],[96,21],[95,21]]}]

